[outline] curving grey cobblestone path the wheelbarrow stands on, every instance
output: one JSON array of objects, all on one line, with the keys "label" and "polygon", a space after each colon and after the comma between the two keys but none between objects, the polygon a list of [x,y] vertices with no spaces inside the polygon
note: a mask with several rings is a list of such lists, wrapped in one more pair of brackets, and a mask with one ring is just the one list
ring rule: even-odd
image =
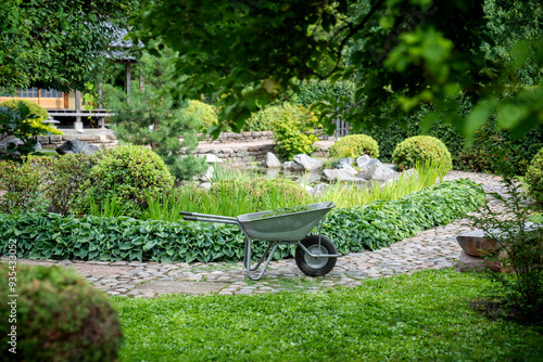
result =
[{"label": "curving grey cobblestone path the wheelbarrow stands on", "polygon": [[[485,192],[502,192],[500,178],[472,172],[452,171],[446,180],[469,178]],[[494,206],[497,207],[497,206]],[[281,290],[316,292],[343,285],[357,286],[367,279],[412,273],[421,269],[451,268],[462,248],[456,235],[473,230],[467,219],[456,220],[418,233],[376,251],[352,253],[338,258],[336,268],[324,277],[308,277],[300,272],[294,259],[270,262],[261,281],[247,277],[241,262],[156,263],[99,262],[73,260],[20,260],[28,264],[59,264],[74,268],[109,295],[155,297],[163,294],[264,294]]]}]

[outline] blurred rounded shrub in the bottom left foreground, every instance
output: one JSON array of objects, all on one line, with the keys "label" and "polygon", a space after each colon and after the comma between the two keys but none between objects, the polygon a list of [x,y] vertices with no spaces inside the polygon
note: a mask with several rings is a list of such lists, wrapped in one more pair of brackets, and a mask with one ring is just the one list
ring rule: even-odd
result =
[{"label": "blurred rounded shrub in the bottom left foreground", "polygon": [[[8,284],[14,275],[16,293]],[[18,295],[0,306],[4,357],[11,353],[10,333],[15,331],[13,360],[116,360],[123,339],[118,314],[101,290],[72,271],[0,263],[0,293]]]}]

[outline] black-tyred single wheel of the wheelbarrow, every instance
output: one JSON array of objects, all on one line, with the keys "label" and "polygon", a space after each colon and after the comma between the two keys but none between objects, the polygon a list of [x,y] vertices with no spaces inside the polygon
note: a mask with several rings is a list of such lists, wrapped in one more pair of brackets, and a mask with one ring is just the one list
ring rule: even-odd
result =
[{"label": "black-tyred single wheel of the wheelbarrow", "polygon": [[[319,245],[320,238],[320,245]],[[310,235],[302,241],[303,246],[312,254],[336,254],[336,247],[332,242],[323,235]],[[296,248],[296,266],[306,275],[323,276],[328,274],[336,266],[338,258],[314,258],[305,250],[298,246]]]}]

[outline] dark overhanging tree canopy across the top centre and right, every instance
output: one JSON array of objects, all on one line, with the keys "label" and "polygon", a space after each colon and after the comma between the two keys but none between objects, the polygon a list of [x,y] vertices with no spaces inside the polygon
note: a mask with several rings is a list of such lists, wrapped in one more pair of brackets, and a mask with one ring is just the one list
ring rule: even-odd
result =
[{"label": "dark overhanging tree canopy across the top centre and right", "polygon": [[[163,0],[146,3],[139,37],[178,51],[175,91],[219,98],[233,129],[278,93],[316,78],[356,83],[354,103],[330,99],[314,107],[325,120],[386,126],[430,104],[426,128],[446,120],[469,138],[494,115],[520,135],[543,122],[542,7],[536,0]],[[463,96],[475,104],[467,118],[451,112]]]}]

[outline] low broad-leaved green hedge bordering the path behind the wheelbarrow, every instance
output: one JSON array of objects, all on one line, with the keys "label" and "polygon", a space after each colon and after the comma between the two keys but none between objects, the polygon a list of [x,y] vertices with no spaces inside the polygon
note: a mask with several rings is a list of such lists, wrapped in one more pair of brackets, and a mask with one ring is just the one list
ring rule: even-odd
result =
[{"label": "low broad-leaved green hedge bordering the path behind the wheelbarrow", "polygon": [[[321,234],[343,254],[377,249],[462,218],[483,201],[482,188],[470,180],[442,182],[394,202],[334,209]],[[241,231],[227,224],[14,214],[0,215],[0,254],[8,255],[8,241],[14,238],[18,258],[209,262],[241,260],[243,254]],[[255,243],[256,255],[265,244]],[[294,249],[282,245],[275,257],[292,256]]]}]

